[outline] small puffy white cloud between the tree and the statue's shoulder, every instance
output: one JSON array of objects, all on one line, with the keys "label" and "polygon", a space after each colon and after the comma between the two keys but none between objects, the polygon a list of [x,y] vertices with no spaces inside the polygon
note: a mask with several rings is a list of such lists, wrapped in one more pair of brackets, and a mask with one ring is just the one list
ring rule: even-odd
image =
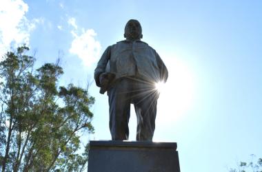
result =
[{"label": "small puffy white cloud between the tree and the statue's shoulder", "polygon": [[94,39],[97,34],[94,30],[82,30],[82,34],[71,32],[74,40],[72,41],[69,52],[76,54],[83,61],[84,65],[91,65],[96,62],[101,53],[101,45],[99,41]]}]

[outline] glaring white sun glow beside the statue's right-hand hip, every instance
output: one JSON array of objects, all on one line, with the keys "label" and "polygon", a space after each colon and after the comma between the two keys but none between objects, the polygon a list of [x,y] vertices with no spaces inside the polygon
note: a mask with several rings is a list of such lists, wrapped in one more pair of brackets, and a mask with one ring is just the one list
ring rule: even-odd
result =
[{"label": "glaring white sun glow beside the statue's right-hand hip", "polygon": [[[157,113],[159,122],[174,122],[184,116],[192,106],[194,76],[190,67],[176,58],[168,61],[168,81],[155,84],[159,92]],[[171,66],[168,66],[172,64]],[[160,117],[161,116],[161,117]],[[167,121],[168,119],[168,121]]]}]

